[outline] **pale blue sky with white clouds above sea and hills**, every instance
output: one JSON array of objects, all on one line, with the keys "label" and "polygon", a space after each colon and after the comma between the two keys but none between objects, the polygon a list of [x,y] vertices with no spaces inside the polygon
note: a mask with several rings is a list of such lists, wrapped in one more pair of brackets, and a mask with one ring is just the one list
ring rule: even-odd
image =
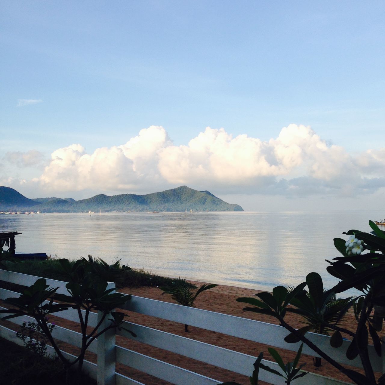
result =
[{"label": "pale blue sky with white clouds above sea and hills", "polygon": [[0,185],[379,210],[382,1],[0,2]]}]

